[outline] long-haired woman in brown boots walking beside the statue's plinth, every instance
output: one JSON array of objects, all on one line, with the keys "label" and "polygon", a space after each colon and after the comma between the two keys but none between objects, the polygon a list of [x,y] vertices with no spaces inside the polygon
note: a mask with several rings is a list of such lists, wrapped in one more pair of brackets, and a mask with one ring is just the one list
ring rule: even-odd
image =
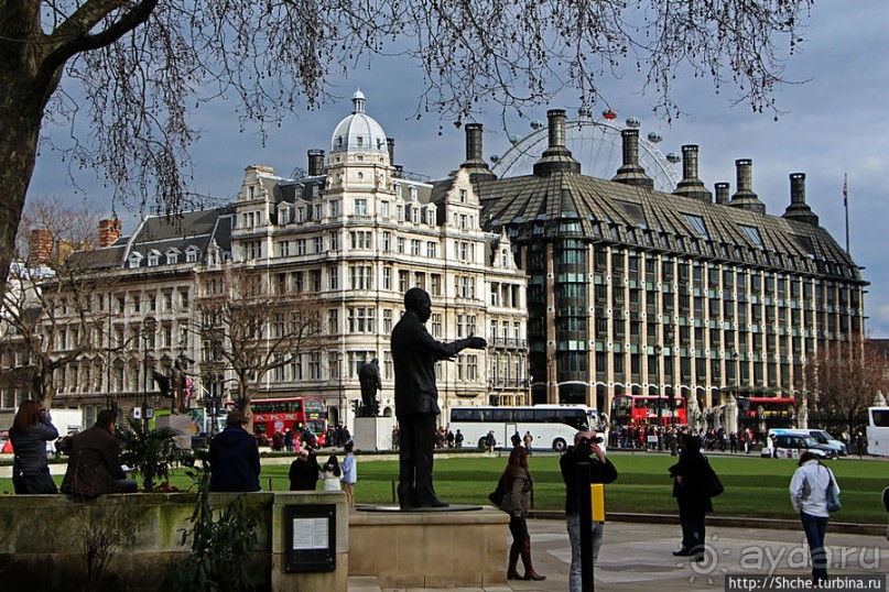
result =
[{"label": "long-haired woman in brown boots walking beside the statue's plinth", "polygon": [[[512,546],[509,548],[507,578],[510,580],[545,580],[545,575],[534,571],[531,564],[531,536],[528,534],[528,496],[534,486],[528,470],[528,451],[521,446],[509,453],[509,462],[500,478],[503,482],[503,501],[500,509],[509,514],[509,531]],[[516,567],[519,556],[524,563],[524,575],[519,575]]]}]

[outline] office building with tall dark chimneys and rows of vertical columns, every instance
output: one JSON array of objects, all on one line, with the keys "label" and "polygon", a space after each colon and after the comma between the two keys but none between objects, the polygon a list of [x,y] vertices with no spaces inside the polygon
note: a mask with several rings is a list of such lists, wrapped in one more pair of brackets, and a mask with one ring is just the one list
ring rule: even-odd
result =
[{"label": "office building with tall dark chimneys and rows of vertical columns", "polygon": [[483,160],[480,127],[466,127],[486,228],[509,237],[529,275],[533,403],[610,409],[620,394],[674,394],[706,419],[727,393],[799,394],[807,360],[864,332],[867,283],[806,204],[804,174],[769,215],[751,161],[736,161],[734,194],[717,183],[714,197],[685,145],[681,179],[658,190],[628,120],[622,164],[595,178],[566,145],[578,125],[595,122],[550,111],[533,171],[507,177]]}]

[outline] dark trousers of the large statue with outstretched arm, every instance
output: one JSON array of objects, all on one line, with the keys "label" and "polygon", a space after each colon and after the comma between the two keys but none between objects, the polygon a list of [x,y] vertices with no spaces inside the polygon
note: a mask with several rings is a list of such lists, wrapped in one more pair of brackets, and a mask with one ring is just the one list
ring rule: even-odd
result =
[{"label": "dark trousers of the large statue with outstretched arm", "polygon": [[435,448],[435,414],[400,416],[399,485],[401,507],[423,507],[436,498],[432,485],[432,454]]}]

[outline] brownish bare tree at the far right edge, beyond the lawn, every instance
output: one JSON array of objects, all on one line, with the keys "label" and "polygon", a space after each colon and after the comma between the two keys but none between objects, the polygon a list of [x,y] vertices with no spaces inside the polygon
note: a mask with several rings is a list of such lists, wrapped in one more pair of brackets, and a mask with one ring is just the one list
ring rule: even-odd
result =
[{"label": "brownish bare tree at the far right edge, beyond the lawn", "polygon": [[889,362],[860,336],[822,351],[806,364],[810,416],[852,430],[878,391],[889,385]]}]

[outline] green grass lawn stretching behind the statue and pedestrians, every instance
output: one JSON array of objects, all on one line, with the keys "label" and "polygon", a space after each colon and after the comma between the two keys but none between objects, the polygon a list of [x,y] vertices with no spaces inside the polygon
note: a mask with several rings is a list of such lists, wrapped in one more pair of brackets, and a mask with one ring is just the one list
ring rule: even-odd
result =
[{"label": "green grass lawn stretching behind the statue and pedestrians", "polygon": [[[322,461],[325,454],[322,454]],[[609,512],[674,514],[671,496],[672,481],[668,467],[675,457],[664,454],[610,456],[618,479],[606,486],[606,508]],[[462,458],[435,461],[435,489],[443,500],[459,504],[486,504],[506,467],[506,457],[489,458],[465,454]],[[559,471],[559,457],[534,456],[530,460],[534,478],[534,507],[561,509],[564,484]],[[715,514],[793,518],[788,485],[796,468],[791,460],[758,457],[711,457],[711,463],[725,484],[725,493],[714,500]],[[889,485],[889,462],[843,459],[830,463],[843,491],[843,509],[833,519],[849,523],[886,524],[880,493]],[[274,490],[286,490],[288,465],[263,465],[260,481],[264,490],[271,480]],[[397,460],[362,460],[358,456],[359,504],[391,503],[392,481],[398,479]],[[61,476],[56,476],[61,482]],[[173,484],[185,489],[188,480],[177,474]],[[11,493],[10,479],[0,479],[0,492]]]}]

